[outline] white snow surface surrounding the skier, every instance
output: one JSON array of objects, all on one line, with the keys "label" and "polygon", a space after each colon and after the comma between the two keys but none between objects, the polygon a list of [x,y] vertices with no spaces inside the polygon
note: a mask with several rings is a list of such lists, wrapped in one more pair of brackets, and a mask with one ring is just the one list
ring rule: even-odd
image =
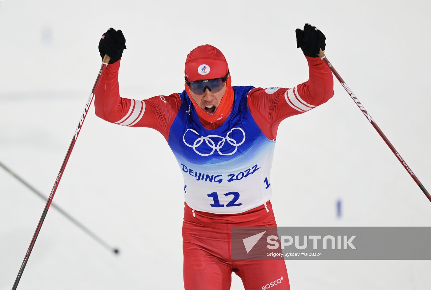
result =
[{"label": "white snow surface surrounding the skier", "polygon": [[[183,90],[200,44],[225,54],[232,84],[307,80],[295,28],[326,53],[413,172],[431,189],[430,1],[0,1],[0,161],[46,195],[100,68],[109,27],[127,40],[123,97]],[[343,87],[282,122],[272,169],[280,226],[430,226],[431,204]],[[91,108],[19,289],[182,289],[181,173],[166,141]],[[337,218],[336,203],[342,201]],[[0,289],[11,289],[45,202],[0,169]],[[430,261],[287,261],[292,289],[429,289]],[[232,275],[231,289],[243,289]]]}]

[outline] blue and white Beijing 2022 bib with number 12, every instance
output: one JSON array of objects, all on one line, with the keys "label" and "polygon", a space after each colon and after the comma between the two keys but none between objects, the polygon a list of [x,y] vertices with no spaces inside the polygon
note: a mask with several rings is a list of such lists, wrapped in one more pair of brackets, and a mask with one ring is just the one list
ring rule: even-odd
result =
[{"label": "blue and white Beijing 2022 bib with number 12", "polygon": [[215,130],[200,123],[184,90],[171,125],[169,147],[184,177],[184,198],[197,211],[240,213],[271,198],[269,174],[275,141],[254,121],[247,95],[254,87],[233,87],[234,104]]}]

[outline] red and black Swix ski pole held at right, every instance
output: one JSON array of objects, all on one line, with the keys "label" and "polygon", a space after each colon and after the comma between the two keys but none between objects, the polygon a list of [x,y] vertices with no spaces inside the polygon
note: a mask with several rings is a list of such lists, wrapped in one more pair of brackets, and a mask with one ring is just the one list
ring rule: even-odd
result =
[{"label": "red and black Swix ski pole held at right", "polygon": [[361,109],[364,116],[368,119],[368,121],[371,123],[371,125],[373,125],[373,127],[376,129],[377,133],[380,135],[380,137],[382,137],[382,139],[387,144],[387,146],[390,148],[390,150],[392,150],[392,152],[395,154],[395,156],[397,156],[398,161],[401,162],[401,164],[404,166],[404,168],[407,170],[407,172],[409,172],[409,175],[413,178],[413,180],[416,182],[416,184],[418,184],[419,188],[422,190],[422,192],[425,194],[425,196],[431,202],[431,195],[428,193],[428,191],[425,189],[425,187],[422,185],[422,183],[419,181],[419,179],[413,173],[412,168],[410,168],[409,165],[407,165],[406,161],[401,157],[400,153],[398,153],[398,151],[395,149],[394,145],[392,145],[390,143],[389,139],[387,139],[387,137],[383,134],[383,131],[381,131],[381,129],[378,127],[378,125],[376,124],[374,119],[371,118],[371,115],[369,114],[369,112],[367,112],[367,110],[364,108],[364,106],[362,106],[361,102],[359,102],[359,100],[355,96],[355,94],[353,94],[352,90],[350,90],[350,87],[346,84],[346,82],[343,80],[343,78],[341,78],[341,76],[338,74],[338,72],[334,69],[334,66],[332,66],[331,62],[329,62],[328,58],[325,56],[325,53],[322,50],[320,50],[320,52],[319,52],[319,57],[326,62],[326,64],[329,66],[329,68],[334,73],[337,80],[343,85],[344,89],[350,95],[352,100],[355,101],[356,105],[359,107],[359,109]]}]

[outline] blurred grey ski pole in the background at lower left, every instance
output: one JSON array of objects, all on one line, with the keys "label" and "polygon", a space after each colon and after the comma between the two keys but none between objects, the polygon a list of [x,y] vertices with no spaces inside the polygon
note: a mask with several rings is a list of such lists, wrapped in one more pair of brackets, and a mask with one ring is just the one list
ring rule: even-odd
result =
[{"label": "blurred grey ski pole in the background at lower left", "polygon": [[[8,172],[10,175],[12,175],[14,178],[16,178],[19,182],[24,184],[29,190],[36,193],[37,196],[39,196],[43,200],[47,200],[47,198],[37,189],[35,189],[33,186],[28,184],[27,181],[22,179],[19,175],[17,175],[15,172],[13,172],[10,168],[8,168],[6,165],[4,165],[2,162],[0,162],[0,167],[3,167],[6,172]],[[51,203],[51,206],[58,210],[62,215],[64,215],[69,221],[71,221],[73,224],[75,224],[78,228],[80,228],[82,231],[84,231],[86,234],[88,234],[90,237],[92,237],[94,240],[97,241],[97,243],[100,243],[102,246],[104,246],[109,251],[118,254],[119,249],[114,248],[112,246],[109,246],[108,243],[106,243],[104,240],[102,240],[100,237],[98,237],[94,232],[90,231],[87,227],[82,225],[79,221],[77,221],[75,218],[73,218],[71,215],[69,215],[66,211],[64,211],[61,207],[57,206],[55,203]]]}]

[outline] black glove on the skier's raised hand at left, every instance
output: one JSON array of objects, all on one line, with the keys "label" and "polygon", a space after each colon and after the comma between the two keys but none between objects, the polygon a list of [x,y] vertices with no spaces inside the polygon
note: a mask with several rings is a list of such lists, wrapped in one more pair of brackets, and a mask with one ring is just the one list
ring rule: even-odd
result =
[{"label": "black glove on the skier's raised hand at left", "polygon": [[123,50],[126,48],[126,39],[124,38],[121,30],[116,31],[114,28],[109,28],[99,41],[100,56],[103,57],[108,54],[111,59],[109,64],[121,59]]}]

